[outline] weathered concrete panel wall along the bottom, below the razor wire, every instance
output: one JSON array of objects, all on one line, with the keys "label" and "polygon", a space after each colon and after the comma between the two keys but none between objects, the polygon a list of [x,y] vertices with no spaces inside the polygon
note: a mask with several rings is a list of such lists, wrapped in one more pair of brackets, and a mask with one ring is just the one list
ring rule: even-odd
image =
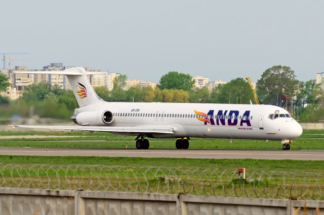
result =
[{"label": "weathered concrete panel wall along the bottom, below the razor wire", "polygon": [[[0,214],[294,214],[303,200],[0,188]],[[324,201],[307,201],[308,214]],[[302,210],[301,213],[302,214]]]}]

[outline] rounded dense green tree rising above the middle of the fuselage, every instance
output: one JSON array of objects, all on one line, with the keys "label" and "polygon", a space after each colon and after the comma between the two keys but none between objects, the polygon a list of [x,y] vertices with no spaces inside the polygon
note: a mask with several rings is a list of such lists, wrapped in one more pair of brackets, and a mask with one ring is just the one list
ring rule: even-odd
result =
[{"label": "rounded dense green tree rising above the middle of the fuselage", "polygon": [[178,73],[176,71],[169,72],[160,78],[158,88],[162,89],[182,89],[184,91],[191,90],[195,84],[189,74]]}]

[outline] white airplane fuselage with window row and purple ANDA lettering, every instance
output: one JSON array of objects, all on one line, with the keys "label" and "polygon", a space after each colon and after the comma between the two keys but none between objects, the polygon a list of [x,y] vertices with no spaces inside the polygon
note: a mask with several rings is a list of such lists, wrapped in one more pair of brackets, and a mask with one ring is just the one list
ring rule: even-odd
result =
[{"label": "white airplane fuselage with window row and purple ANDA lettering", "polygon": [[[102,123],[105,111],[113,116],[109,124]],[[174,134],[151,134],[152,138],[292,140],[302,134],[299,123],[273,105],[102,101],[75,109],[76,116],[80,113],[97,113],[76,122],[83,126],[165,126],[174,130]]]}]

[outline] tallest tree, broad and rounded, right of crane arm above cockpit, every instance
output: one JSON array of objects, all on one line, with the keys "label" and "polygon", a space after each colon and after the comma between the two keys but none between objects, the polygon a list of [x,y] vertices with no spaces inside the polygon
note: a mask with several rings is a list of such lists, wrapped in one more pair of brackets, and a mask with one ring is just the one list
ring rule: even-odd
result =
[{"label": "tallest tree, broad and rounded, right of crane arm above cockpit", "polygon": [[286,66],[273,66],[257,81],[258,98],[265,104],[282,105],[281,96],[295,96],[298,80],[294,70]]}]

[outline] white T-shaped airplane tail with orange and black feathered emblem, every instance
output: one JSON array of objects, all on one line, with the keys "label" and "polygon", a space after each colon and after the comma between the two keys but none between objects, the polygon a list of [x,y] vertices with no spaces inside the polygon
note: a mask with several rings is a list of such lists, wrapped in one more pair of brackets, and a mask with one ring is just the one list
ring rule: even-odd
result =
[{"label": "white T-shaped airplane tail with orange and black feathered emblem", "polygon": [[62,71],[23,71],[16,73],[66,75],[80,107],[103,101],[91,86],[87,75],[98,75],[105,73],[87,72],[82,67],[74,67]]}]

